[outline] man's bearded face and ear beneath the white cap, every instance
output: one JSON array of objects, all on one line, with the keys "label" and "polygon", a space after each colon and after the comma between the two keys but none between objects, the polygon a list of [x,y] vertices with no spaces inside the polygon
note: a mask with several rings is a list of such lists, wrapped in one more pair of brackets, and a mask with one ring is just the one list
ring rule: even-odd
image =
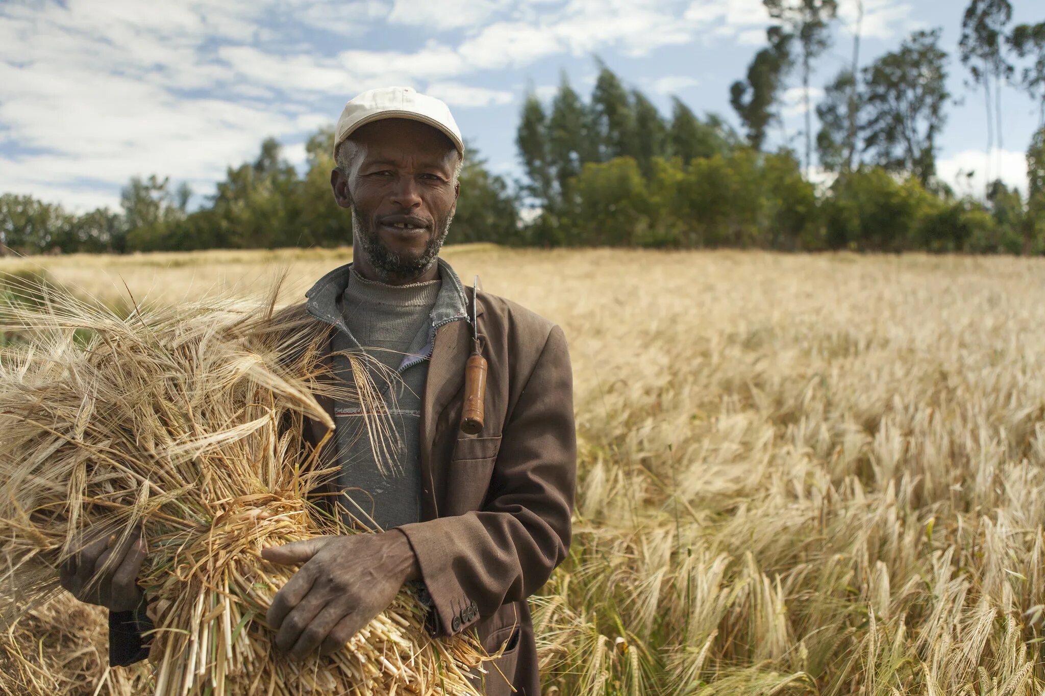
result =
[{"label": "man's bearded face and ear beneath the white cap", "polygon": [[348,171],[334,169],[330,183],[352,210],[356,263],[385,282],[414,280],[432,267],[457,210],[457,149],[407,119],[368,123],[351,141]]}]

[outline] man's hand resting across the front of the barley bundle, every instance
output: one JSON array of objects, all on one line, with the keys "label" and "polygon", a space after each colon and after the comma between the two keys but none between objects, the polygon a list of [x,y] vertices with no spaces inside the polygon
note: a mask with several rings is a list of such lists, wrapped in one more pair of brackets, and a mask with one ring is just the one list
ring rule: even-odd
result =
[{"label": "man's hand resting across the front of the barley bundle", "polygon": [[396,529],[317,536],[262,549],[261,557],[282,566],[304,563],[265,615],[276,629],[276,647],[297,659],[316,648],[328,654],[344,647],[388,608],[403,582],[419,577],[410,542]]}]

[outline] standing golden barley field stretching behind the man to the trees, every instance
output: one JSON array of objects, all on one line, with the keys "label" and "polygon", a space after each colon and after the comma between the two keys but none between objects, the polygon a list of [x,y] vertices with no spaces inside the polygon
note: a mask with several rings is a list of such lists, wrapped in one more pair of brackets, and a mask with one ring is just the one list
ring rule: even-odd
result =
[{"label": "standing golden barley field stretching behind the man to the trees", "polygon": [[[533,600],[545,693],[1045,689],[1045,262],[444,257],[570,340],[581,456],[571,557]],[[125,282],[138,301],[178,302],[260,291],[277,267],[301,290],[345,259],[70,256],[0,270],[42,264],[109,301]],[[42,613],[5,650],[36,650],[51,693],[95,693],[103,639],[84,629],[94,648],[77,648],[66,616]],[[97,693],[131,690],[117,669]]]}]

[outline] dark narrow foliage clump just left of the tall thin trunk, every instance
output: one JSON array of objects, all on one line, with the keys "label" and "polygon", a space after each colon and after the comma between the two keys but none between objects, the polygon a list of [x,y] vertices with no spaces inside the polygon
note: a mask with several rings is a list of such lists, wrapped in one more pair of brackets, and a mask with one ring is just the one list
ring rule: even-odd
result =
[{"label": "dark narrow foliage clump just left of the tall thin trunk", "polygon": [[747,67],[746,81],[738,80],[729,88],[729,104],[747,130],[747,142],[756,150],[765,145],[784,76],[792,65],[793,37],[780,27],[770,27],[766,33],[769,46],[754,54]]}]

